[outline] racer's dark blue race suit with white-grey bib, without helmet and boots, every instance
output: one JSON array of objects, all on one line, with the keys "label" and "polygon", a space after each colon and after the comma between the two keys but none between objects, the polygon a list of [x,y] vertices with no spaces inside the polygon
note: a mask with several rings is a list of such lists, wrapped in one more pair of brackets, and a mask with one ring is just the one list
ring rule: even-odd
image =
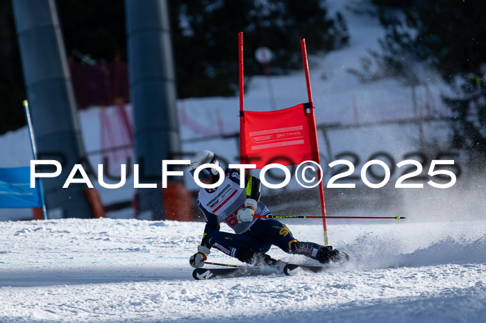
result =
[{"label": "racer's dark blue race suit with white-grey bib, without helmet and boots", "polygon": [[[246,198],[259,200],[261,183],[258,178],[244,173],[244,188],[240,187],[240,170],[228,168],[224,182],[216,189],[201,189],[198,205],[206,218],[201,245],[216,248],[229,256],[238,257],[238,250],[251,247],[257,252],[267,252],[271,245],[290,254],[303,254],[316,259],[321,245],[296,240],[282,222],[275,219],[253,218],[251,222],[237,221],[239,209]],[[255,215],[271,215],[265,204],[258,201]],[[235,233],[219,231],[221,221]]]}]

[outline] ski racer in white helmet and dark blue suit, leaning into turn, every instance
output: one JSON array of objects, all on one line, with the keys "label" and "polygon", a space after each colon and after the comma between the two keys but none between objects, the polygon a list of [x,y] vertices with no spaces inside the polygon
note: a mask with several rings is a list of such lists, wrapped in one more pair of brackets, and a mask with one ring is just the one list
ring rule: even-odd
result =
[{"label": "ski racer in white helmet and dark blue suit, leaning into turn", "polygon": [[[201,150],[192,156],[188,166],[192,177],[202,164],[219,166],[217,155],[209,150]],[[224,176],[224,182],[217,188],[201,188],[199,191],[197,203],[206,218],[206,227],[201,245],[189,259],[192,267],[201,268],[211,248],[251,265],[275,265],[278,261],[265,254],[271,245],[289,254],[303,254],[320,263],[348,259],[347,254],[333,247],[296,240],[290,229],[278,220],[253,218],[255,215],[271,215],[265,204],[259,201],[260,180],[245,172],[245,187],[240,188],[239,169],[227,168]],[[219,173],[215,168],[203,168],[199,180],[203,184],[214,184],[219,180]],[[219,231],[221,222],[226,222],[235,233]]]}]

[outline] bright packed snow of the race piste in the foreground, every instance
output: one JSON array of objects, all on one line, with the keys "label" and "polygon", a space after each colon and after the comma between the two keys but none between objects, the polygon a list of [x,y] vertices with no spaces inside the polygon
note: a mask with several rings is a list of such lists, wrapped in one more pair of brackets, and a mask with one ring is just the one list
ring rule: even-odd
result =
[{"label": "bright packed snow of the race piste in the foreground", "polygon": [[[351,260],[328,272],[208,281],[188,264],[203,222],[0,222],[0,321],[484,322],[486,222],[407,221],[330,225]],[[305,223],[287,225],[321,243],[319,222]]]}]

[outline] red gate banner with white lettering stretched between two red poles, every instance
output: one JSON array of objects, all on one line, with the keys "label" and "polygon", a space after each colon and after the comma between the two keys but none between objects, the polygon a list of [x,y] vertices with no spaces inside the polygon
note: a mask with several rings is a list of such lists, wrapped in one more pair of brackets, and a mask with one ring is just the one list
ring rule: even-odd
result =
[{"label": "red gate banner with white lettering stretched between two red poles", "polygon": [[319,162],[315,119],[310,103],[270,112],[244,111],[240,139],[242,163],[295,165]]}]

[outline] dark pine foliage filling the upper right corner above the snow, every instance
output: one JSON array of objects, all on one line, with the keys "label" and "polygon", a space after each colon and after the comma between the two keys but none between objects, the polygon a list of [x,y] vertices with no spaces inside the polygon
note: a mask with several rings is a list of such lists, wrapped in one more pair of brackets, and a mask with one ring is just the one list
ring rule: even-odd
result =
[{"label": "dark pine foliage filling the upper right corner above the snow", "polygon": [[[381,53],[372,53],[385,76],[419,82],[410,66],[421,62],[435,69],[451,87],[454,96],[443,101],[453,112],[453,146],[471,156],[486,157],[486,2],[414,0],[369,0],[369,10],[386,30]],[[369,4],[368,3],[368,4]],[[369,8],[369,7],[367,7]],[[366,61],[365,61],[366,62]],[[364,80],[384,73],[354,71]],[[421,80],[423,82],[424,80]]]}]

